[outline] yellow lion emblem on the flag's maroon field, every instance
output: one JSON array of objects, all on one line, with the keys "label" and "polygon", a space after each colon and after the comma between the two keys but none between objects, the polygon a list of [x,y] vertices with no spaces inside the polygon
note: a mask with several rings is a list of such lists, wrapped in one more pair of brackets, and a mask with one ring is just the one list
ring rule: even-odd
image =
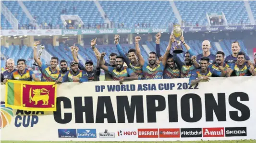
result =
[{"label": "yellow lion emblem on the flag's maroon field", "polygon": [[42,88],[42,89],[33,89],[33,97],[31,95],[32,93],[32,88],[30,88],[29,91],[29,103],[31,101],[35,102],[34,105],[38,104],[38,101],[42,100],[43,104],[42,105],[48,105],[49,102],[49,90]]}]

